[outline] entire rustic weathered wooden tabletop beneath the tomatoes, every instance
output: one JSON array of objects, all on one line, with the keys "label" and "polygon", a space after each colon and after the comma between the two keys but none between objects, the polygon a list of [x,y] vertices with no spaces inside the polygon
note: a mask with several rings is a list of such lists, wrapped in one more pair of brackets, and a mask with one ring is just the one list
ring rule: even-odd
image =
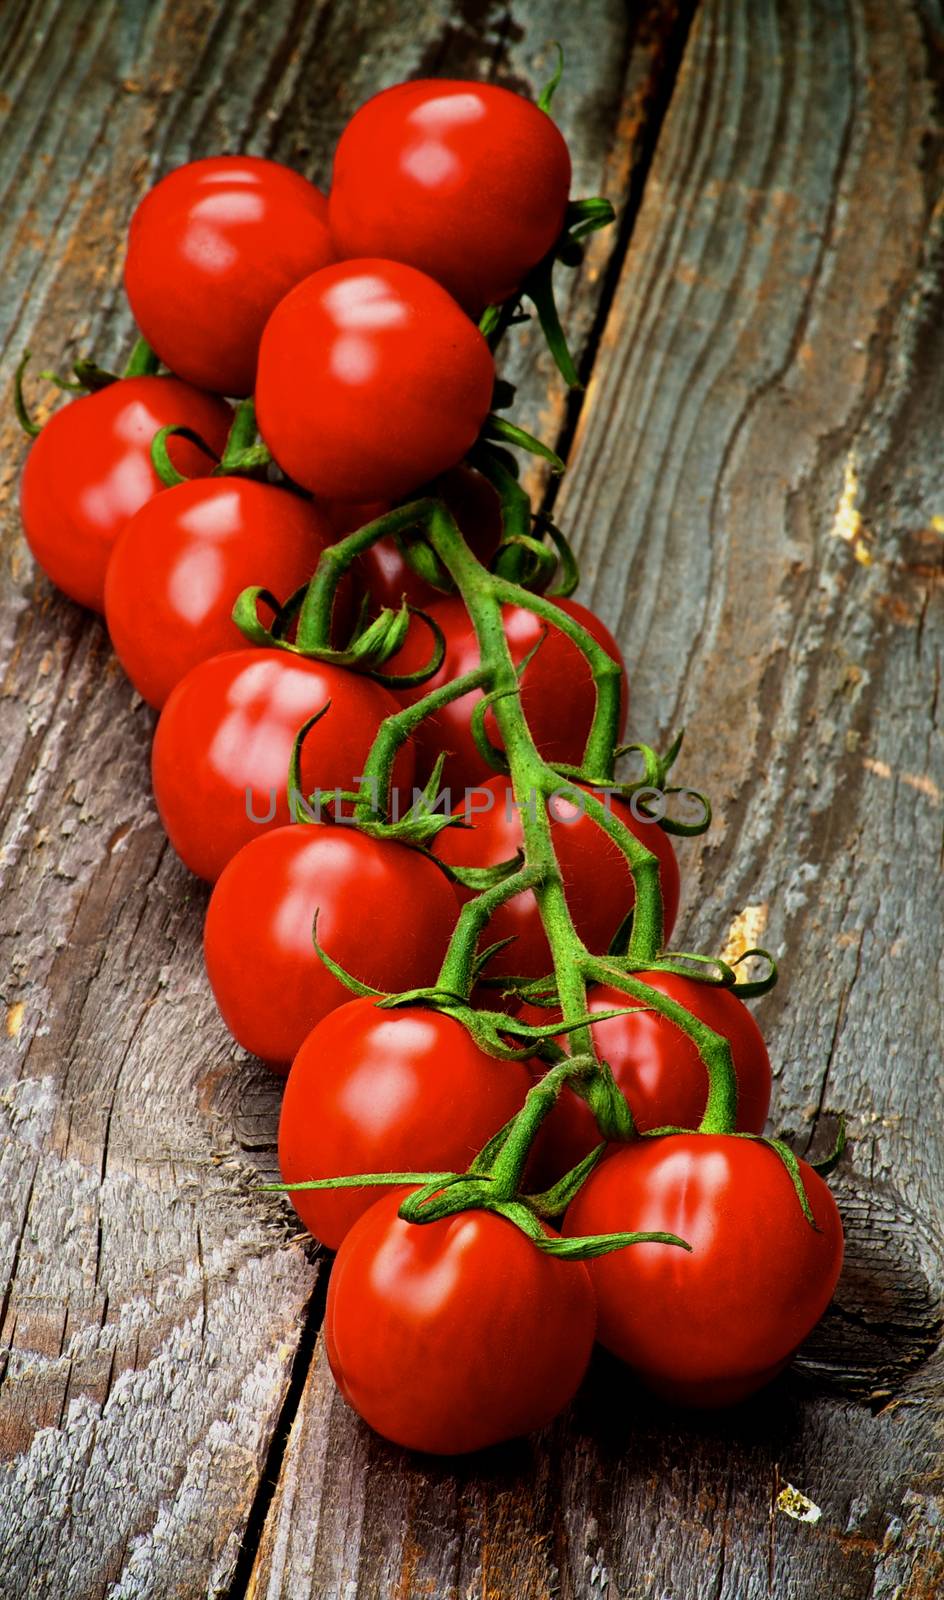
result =
[{"label": "entire rustic weathered wooden tabletop beneath the tomatoes", "polygon": [[27,342],[128,349],[123,232],[168,166],[326,179],[376,86],[533,90],[550,38],[576,192],[621,222],[571,291],[586,392],[525,334],[522,419],[568,456],[555,509],[635,733],[685,723],[715,800],[682,941],[782,957],[776,1125],[821,1150],[850,1118],[837,1302],[726,1416],[600,1362],[558,1426],[474,1461],[358,1426],[325,1262],[256,1189],[278,1090],[214,1013],[154,718],[32,570],[6,410],[3,1600],[944,1592],[939,0],[3,0],[5,373]]}]

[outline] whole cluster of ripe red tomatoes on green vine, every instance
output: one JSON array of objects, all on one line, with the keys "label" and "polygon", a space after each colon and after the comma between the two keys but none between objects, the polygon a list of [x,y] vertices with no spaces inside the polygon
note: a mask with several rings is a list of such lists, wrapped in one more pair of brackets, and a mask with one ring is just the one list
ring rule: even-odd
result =
[{"label": "whole cluster of ripe red tomatoes on green vine", "polygon": [[42,430],[26,360],[16,390],[27,542],[160,714],[219,1013],[286,1074],[331,1370],[438,1453],[544,1426],[595,1339],[738,1400],[842,1262],[822,1178],[763,1138],[771,979],[669,947],[707,803],[674,821],[677,744],[621,746],[626,662],[515,451],[563,464],[502,414],[528,306],[578,381],[554,272],[611,219],[570,197],[555,83],[386,90],[330,195],[171,171],[131,219],[126,373],[77,362]]}]

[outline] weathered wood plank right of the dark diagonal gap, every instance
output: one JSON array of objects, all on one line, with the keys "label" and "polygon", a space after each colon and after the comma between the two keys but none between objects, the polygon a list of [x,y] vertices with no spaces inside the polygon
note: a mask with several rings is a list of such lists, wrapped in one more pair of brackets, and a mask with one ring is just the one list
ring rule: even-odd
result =
[{"label": "weathered wood plank right of the dark diagonal gap", "polygon": [[458,1467],[373,1440],[320,1354],[253,1595],[944,1584],[939,43],[907,0],[704,0],[557,502],[635,731],[686,722],[717,803],[682,942],[782,957],[778,1123],[850,1114],[837,1307],[730,1416],[600,1362],[566,1422]]}]

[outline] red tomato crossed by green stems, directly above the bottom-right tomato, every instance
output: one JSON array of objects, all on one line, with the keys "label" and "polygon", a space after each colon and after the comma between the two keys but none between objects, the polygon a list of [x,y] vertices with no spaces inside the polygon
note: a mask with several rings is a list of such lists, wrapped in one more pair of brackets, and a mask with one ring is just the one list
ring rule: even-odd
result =
[{"label": "red tomato crossed by green stems, directly above the bottom-right tomato", "polygon": [[[502,952],[504,954],[504,952]],[[738,1077],[738,1130],[762,1133],[770,1109],[770,1056],[750,1011],[730,989],[678,978],[675,973],[635,973],[670,1000],[707,1022],[731,1043]],[[621,989],[600,984],[587,995],[590,1011],[637,1005]],[[522,1006],[525,1022],[560,1018],[560,1011]],[[632,1011],[595,1022],[594,1043],[626,1094],[640,1133],[650,1128],[696,1128],[707,1101],[707,1075],[694,1043],[658,1011]],[[566,1050],[566,1040],[558,1035]],[[579,1094],[565,1088],[538,1136],[547,1184],[582,1162],[600,1144],[594,1114]]]}]

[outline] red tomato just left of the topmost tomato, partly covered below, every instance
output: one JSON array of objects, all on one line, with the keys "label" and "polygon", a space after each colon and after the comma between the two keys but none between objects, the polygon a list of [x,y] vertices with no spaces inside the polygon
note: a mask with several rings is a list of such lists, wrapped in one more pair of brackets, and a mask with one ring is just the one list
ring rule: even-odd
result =
[{"label": "red tomato just left of the topmost tomato, partly covered below", "polygon": [[299,173],[213,155],[168,173],[131,218],[125,288],[162,362],[248,395],[262,328],[290,288],[334,261],[328,202]]}]

